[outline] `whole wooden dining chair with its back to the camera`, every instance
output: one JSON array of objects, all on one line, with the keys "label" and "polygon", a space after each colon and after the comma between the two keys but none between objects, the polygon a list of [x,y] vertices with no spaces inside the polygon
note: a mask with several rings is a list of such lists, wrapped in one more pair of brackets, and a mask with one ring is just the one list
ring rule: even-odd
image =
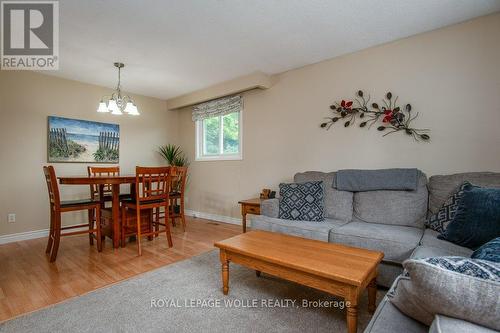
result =
[{"label": "whole wooden dining chair with its back to the camera", "polygon": [[[137,236],[137,250],[142,255],[141,238],[156,236],[162,232],[167,235],[168,246],[172,247],[172,235],[168,223],[169,194],[171,190],[171,176],[169,167],[136,167],[135,198],[122,201],[122,246],[125,238]],[[165,222],[153,219],[153,210],[165,210]],[[129,224],[135,220],[134,224]],[[144,222],[146,221],[146,223]],[[160,226],[165,229],[160,230]]]}]

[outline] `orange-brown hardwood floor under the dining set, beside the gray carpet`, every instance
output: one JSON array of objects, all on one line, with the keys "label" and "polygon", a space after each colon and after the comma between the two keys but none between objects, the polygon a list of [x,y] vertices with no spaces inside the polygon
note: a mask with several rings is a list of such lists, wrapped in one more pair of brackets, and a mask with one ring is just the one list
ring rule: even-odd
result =
[{"label": "orange-brown hardwood floor under the dining set, beside the gray carpet", "polygon": [[0,245],[0,321],[82,295],[134,275],[215,249],[213,244],[241,233],[241,226],[186,218],[172,228],[173,248],[165,235],[142,242],[142,256],[135,242],[113,249],[106,240],[103,252],[89,246],[88,236],[61,241],[57,261],[45,256],[47,238]]}]

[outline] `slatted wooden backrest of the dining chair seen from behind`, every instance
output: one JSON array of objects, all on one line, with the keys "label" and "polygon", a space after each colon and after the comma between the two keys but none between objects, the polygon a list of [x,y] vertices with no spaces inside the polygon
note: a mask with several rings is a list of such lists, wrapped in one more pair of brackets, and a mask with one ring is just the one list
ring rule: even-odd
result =
[{"label": "slatted wooden backrest of the dining chair seen from behind", "polygon": [[151,200],[168,201],[171,189],[169,167],[136,167],[135,168],[136,203]]}]

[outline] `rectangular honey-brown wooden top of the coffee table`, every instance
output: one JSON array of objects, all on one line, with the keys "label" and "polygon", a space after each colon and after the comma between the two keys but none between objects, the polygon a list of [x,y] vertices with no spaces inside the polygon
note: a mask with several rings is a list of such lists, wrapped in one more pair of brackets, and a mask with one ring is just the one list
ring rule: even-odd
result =
[{"label": "rectangular honey-brown wooden top of the coffee table", "polygon": [[378,251],[260,230],[215,246],[356,286],[366,282],[384,257]]}]

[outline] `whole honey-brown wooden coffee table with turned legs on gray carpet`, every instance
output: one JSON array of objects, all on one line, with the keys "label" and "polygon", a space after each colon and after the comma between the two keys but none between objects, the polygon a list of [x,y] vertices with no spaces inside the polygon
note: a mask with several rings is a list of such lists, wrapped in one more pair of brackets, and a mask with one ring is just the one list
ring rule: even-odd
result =
[{"label": "whole honey-brown wooden coffee table with turned legs on gray carpet", "polygon": [[229,262],[297,282],[347,302],[347,330],[357,330],[359,296],[368,288],[368,310],[375,311],[377,266],[382,252],[267,231],[250,231],[215,243],[220,249],[224,295],[229,292]]}]

